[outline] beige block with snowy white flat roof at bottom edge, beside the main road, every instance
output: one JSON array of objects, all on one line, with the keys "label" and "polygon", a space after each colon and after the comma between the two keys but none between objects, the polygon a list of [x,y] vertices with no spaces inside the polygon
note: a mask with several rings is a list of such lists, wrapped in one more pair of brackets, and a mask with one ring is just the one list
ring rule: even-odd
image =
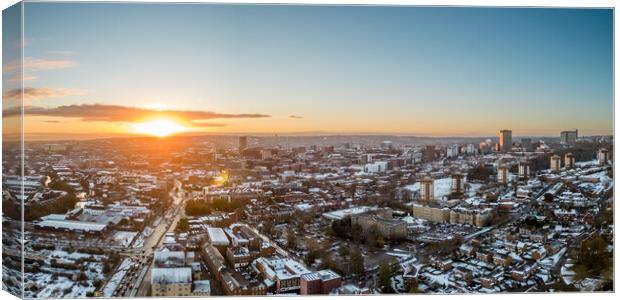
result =
[{"label": "beige block with snowy white flat roof at bottom edge, beside the main road", "polygon": [[153,268],[151,271],[153,297],[192,296],[192,269]]}]

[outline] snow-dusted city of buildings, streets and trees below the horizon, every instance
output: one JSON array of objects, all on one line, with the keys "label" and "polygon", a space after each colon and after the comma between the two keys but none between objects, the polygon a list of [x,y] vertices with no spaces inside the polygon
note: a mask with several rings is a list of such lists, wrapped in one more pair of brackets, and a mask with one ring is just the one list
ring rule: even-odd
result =
[{"label": "snow-dusted city of buildings, streets and trees below the horizon", "polygon": [[3,284],[26,298],[612,290],[612,148],[577,130],[5,142]]}]

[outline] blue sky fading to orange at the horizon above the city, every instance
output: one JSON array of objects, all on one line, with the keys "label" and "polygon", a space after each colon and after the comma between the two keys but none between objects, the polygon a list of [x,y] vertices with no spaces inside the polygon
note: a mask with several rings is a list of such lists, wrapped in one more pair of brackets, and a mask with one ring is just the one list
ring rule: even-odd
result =
[{"label": "blue sky fading to orange at the horizon above the city", "polygon": [[[24,13],[33,135],[140,133],[145,123],[613,134],[612,10],[26,3]],[[5,63],[3,73],[16,69]],[[5,101],[19,99],[10,92]]]}]

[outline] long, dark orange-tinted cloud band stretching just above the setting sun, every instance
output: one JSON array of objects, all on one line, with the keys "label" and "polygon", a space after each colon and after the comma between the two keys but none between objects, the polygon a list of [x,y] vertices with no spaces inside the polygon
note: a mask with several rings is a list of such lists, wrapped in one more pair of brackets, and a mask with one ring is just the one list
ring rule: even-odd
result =
[{"label": "long, dark orange-tinted cloud band stretching just above the setting sun", "polygon": [[[19,108],[7,109],[3,112],[5,117],[19,115]],[[117,122],[134,123],[155,118],[170,118],[179,122],[197,127],[219,127],[225,124],[211,123],[211,119],[237,119],[237,118],[269,118],[265,114],[224,114],[210,111],[193,110],[154,110],[138,107],[104,104],[81,104],[64,105],[53,108],[39,106],[25,106],[25,115],[78,118],[85,122]]]}]

